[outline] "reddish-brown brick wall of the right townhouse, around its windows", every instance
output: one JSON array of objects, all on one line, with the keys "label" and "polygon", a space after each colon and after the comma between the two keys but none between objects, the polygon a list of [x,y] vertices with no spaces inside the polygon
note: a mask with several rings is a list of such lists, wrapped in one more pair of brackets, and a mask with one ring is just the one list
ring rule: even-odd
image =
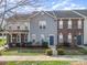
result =
[{"label": "reddish-brown brick wall of the right townhouse, around its windows", "polygon": [[[68,29],[68,20],[69,19],[63,19],[63,29],[58,29],[59,28],[59,20],[57,20],[57,36],[59,33],[63,33],[63,37],[64,37],[64,42],[67,42],[67,35],[68,33],[72,33],[72,43],[70,44],[75,44],[76,41],[75,41],[75,36],[79,34],[84,35],[84,19],[81,19],[81,29],[78,29],[78,20],[79,19],[70,19],[72,20],[72,29]],[[58,40],[57,40],[58,41]]]}]

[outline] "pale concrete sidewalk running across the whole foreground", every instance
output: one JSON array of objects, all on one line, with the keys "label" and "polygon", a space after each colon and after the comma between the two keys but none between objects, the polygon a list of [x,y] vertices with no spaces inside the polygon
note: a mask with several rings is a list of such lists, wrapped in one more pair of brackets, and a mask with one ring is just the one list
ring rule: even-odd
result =
[{"label": "pale concrete sidewalk running across the whole foreground", "polygon": [[87,55],[66,56],[0,56],[0,61],[87,61]]}]

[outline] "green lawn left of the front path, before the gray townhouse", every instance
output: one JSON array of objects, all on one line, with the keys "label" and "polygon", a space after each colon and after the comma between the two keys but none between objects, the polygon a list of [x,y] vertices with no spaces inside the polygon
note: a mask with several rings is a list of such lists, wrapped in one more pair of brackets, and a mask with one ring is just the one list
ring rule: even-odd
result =
[{"label": "green lawn left of the front path, before the gray townhouse", "polygon": [[2,51],[2,55],[44,55],[45,48],[9,48]]}]

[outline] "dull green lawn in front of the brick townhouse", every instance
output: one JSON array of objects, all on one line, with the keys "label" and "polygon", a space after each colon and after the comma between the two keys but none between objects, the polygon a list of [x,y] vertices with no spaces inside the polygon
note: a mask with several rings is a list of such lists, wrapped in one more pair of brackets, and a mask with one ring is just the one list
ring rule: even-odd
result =
[{"label": "dull green lawn in front of the brick townhouse", "polygon": [[87,50],[83,47],[62,47],[65,55],[87,55]]}]

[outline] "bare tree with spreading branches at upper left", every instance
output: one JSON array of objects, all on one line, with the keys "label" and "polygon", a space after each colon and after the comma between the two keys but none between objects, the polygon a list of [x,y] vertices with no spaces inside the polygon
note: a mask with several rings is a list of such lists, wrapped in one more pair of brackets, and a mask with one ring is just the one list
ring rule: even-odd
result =
[{"label": "bare tree with spreading branches at upper left", "polygon": [[6,14],[8,17],[10,15],[10,13],[14,14],[15,12],[12,10],[14,10],[19,7],[23,7],[23,6],[31,6],[33,8],[36,8],[36,7],[39,7],[39,4],[36,4],[36,3],[37,3],[37,0],[20,0],[20,1],[17,0],[17,3],[12,3],[12,4],[14,4],[13,7],[8,8],[8,0],[0,0],[0,7],[3,8],[3,11],[0,12],[0,18],[1,18],[0,30],[2,30],[2,24],[3,24],[3,21],[6,19]]}]

